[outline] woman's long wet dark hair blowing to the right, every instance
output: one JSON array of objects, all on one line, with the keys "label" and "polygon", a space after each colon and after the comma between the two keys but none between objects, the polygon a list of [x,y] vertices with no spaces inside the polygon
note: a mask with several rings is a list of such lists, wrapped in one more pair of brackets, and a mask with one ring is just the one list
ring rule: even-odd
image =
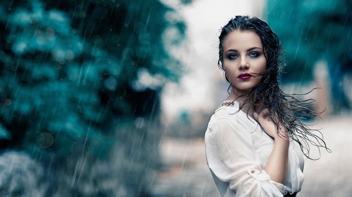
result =
[{"label": "woman's long wet dark hair blowing to the right", "polygon": [[[296,96],[302,94],[286,94],[279,86],[280,73],[283,66],[285,66],[285,63],[281,60],[283,47],[280,44],[278,36],[271,30],[266,22],[256,17],[249,18],[248,16],[236,16],[235,19],[231,19],[221,29],[219,36],[219,68],[225,72],[222,64],[223,43],[226,37],[235,30],[255,32],[260,38],[263,52],[267,59],[266,71],[264,73],[256,73],[262,75],[260,83],[248,94],[238,95],[239,97],[245,98],[240,109],[245,106],[254,106],[255,109],[259,104],[261,104],[262,109],[268,109],[269,116],[276,124],[277,130],[280,124],[284,125],[292,139],[300,145],[302,152],[307,158],[310,158],[309,144],[313,144],[318,148],[323,147],[330,152],[330,149],[326,147],[321,132],[319,130],[310,129],[309,126],[311,125],[307,125],[303,122],[307,118],[318,117],[321,114],[310,109],[315,101],[312,99],[299,100]],[[226,74],[225,78],[230,82]],[[229,90],[231,86],[230,83]]]}]

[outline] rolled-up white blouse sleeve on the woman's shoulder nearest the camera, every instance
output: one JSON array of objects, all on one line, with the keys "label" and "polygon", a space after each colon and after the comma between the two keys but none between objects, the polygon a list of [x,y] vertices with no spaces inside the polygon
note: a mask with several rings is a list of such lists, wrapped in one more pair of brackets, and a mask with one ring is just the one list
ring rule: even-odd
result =
[{"label": "rolled-up white blouse sleeve on the woman's shoulder nearest the camera", "polygon": [[211,120],[205,135],[209,168],[228,182],[236,196],[283,196],[286,186],[274,182],[261,169],[251,137],[240,124],[227,118]]}]

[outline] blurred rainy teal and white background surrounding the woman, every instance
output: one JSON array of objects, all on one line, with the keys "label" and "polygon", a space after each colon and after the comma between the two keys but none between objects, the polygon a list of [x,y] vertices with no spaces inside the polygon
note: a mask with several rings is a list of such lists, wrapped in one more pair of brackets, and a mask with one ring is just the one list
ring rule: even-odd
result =
[{"label": "blurred rainy teal and white background surrounding the woman", "polygon": [[227,97],[219,29],[268,22],[286,93],[316,100],[300,196],[350,196],[352,2],[0,1],[1,196],[220,196],[204,153]]}]

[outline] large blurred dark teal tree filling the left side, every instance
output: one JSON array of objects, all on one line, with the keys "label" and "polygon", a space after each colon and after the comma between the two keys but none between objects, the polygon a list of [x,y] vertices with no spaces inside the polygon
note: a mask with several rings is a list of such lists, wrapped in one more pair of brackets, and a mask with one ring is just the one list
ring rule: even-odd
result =
[{"label": "large blurred dark teal tree filling the left side", "polygon": [[1,1],[0,16],[0,146],[60,167],[117,141],[128,196],[145,193],[158,92],[183,73],[166,50],[184,38],[178,13],[157,0],[25,0]]}]

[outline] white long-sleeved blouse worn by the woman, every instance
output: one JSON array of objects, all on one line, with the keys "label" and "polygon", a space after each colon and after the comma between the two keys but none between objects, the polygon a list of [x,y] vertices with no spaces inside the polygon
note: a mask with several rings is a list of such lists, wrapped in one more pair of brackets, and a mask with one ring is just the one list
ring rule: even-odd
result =
[{"label": "white long-sleeved blouse worn by the woman", "polygon": [[274,182],[263,170],[274,139],[246,113],[239,103],[222,106],[211,117],[205,133],[209,169],[222,196],[283,196],[298,192],[304,180],[300,147],[290,142],[285,185]]}]

